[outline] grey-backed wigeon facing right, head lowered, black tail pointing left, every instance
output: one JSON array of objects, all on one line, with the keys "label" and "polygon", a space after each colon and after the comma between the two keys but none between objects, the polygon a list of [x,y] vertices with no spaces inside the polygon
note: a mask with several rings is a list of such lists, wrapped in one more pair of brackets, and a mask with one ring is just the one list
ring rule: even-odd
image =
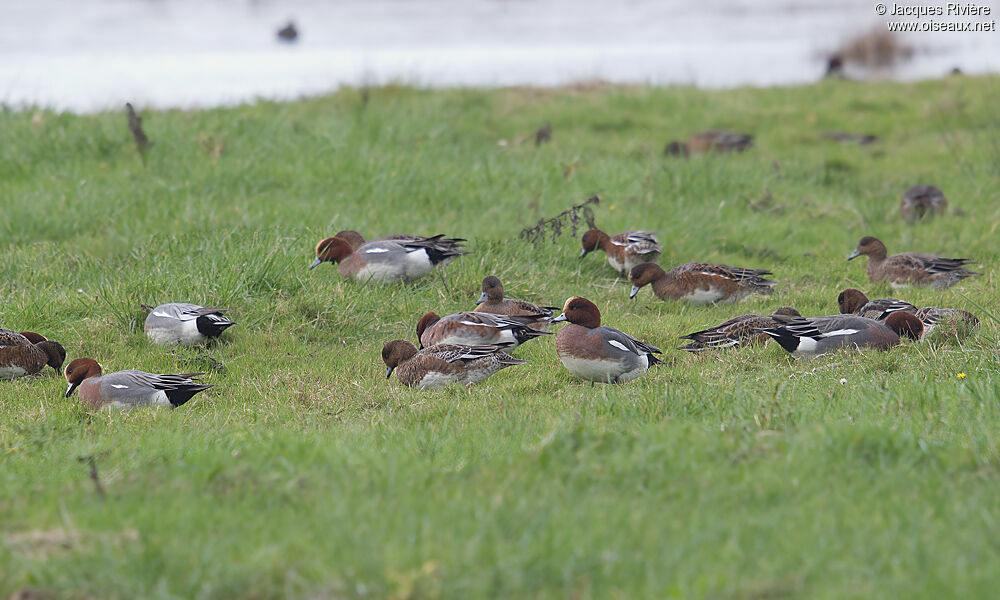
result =
[{"label": "grey-backed wigeon facing right, head lowered, black tail pointing left", "polygon": [[857,315],[831,315],[790,319],[762,331],[792,356],[801,358],[852,346],[887,350],[899,344],[903,335],[919,340],[923,329],[920,319],[908,312],[896,311],[884,321]]}]

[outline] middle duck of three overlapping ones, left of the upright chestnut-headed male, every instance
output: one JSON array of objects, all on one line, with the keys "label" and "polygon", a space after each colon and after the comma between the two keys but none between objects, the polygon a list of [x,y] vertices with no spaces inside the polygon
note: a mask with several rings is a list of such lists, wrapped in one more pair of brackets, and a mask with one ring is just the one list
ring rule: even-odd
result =
[{"label": "middle duck of three overlapping ones, left of the upright chestnut-headed male", "polygon": [[504,343],[513,348],[540,335],[552,335],[528,325],[537,319],[537,315],[508,317],[483,312],[439,317],[429,312],[417,322],[417,339],[421,348],[438,344],[490,346]]}]

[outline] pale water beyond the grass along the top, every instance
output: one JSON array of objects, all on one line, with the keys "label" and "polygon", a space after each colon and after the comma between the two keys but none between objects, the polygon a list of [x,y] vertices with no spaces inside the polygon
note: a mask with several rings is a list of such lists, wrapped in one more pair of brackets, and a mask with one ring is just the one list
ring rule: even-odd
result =
[{"label": "pale water beyond the grass along the top", "polygon": [[[186,108],[386,82],[498,86],[604,79],[710,88],[805,83],[822,74],[830,50],[870,27],[885,27],[873,4],[3,0],[0,102],[89,112],[119,109],[126,100]],[[992,13],[979,19],[1000,18],[996,9]],[[294,44],[275,36],[289,19],[300,31]],[[968,73],[1000,70],[1000,33],[904,39],[917,54],[883,75],[909,80],[938,77],[955,66]]]}]

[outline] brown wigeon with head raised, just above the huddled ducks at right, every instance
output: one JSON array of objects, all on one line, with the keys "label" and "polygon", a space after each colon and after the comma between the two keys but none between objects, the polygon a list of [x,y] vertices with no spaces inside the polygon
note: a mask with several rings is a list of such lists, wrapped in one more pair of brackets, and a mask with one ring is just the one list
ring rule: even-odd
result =
[{"label": "brown wigeon with head raised, just above the huddled ducks at right", "polygon": [[906,287],[911,283],[946,288],[966,277],[982,275],[964,267],[973,262],[967,258],[942,258],[918,252],[903,252],[892,256],[887,254],[885,244],[869,235],[861,238],[858,247],[847,260],[867,256],[868,280],[872,283],[888,281],[894,288]]}]

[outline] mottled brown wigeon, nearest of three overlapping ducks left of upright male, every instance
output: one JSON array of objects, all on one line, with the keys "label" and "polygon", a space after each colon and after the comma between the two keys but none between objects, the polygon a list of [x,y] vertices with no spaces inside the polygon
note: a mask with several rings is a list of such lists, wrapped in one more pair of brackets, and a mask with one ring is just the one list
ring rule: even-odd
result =
[{"label": "mottled brown wigeon, nearest of three overlapping ducks left of upright male", "polygon": [[410,387],[428,389],[453,383],[472,385],[500,369],[528,362],[505,353],[503,350],[509,345],[438,344],[418,351],[411,342],[392,340],[382,348],[382,362],[386,366],[386,378],[396,371],[400,383]]}]

